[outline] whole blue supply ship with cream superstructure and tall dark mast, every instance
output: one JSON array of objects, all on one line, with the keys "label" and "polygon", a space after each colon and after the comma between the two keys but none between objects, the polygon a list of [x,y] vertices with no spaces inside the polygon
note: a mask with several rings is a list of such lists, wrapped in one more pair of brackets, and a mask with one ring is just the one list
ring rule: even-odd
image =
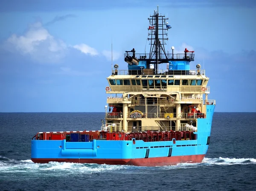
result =
[{"label": "whole blue supply ship with cream superstructure and tall dark mast", "polygon": [[[96,131],[38,132],[31,141],[36,163],[78,162],[163,166],[202,162],[210,142],[215,100],[208,100],[209,77],[194,51],[166,51],[172,27],[158,8],[149,18],[149,53],[125,51],[128,70],[115,64],[105,120]],[[130,49],[130,48],[129,48]],[[160,70],[161,66],[167,66]]]}]

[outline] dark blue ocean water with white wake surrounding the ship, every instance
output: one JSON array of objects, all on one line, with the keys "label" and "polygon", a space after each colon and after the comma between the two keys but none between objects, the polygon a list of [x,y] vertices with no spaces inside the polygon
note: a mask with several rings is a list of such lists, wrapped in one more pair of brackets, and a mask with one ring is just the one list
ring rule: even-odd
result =
[{"label": "dark blue ocean water with white wake surrounding the ship", "polygon": [[98,130],[104,113],[0,113],[0,191],[256,190],[256,113],[215,113],[202,163],[162,167],[30,160],[39,131]]}]

